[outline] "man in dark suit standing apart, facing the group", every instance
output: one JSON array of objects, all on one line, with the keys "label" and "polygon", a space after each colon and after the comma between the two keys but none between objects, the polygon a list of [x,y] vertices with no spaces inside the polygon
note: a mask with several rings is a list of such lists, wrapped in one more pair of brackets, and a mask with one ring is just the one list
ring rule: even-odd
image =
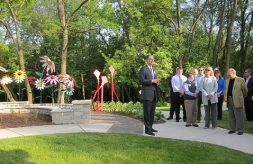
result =
[{"label": "man in dark suit standing apart, facing the group", "polygon": [[152,128],[155,116],[155,106],[157,98],[157,84],[160,82],[157,79],[155,70],[153,69],[154,57],[149,55],[147,64],[140,70],[139,80],[142,85],[141,100],[143,102],[144,125],[145,133],[148,135],[155,135],[157,130]]}]

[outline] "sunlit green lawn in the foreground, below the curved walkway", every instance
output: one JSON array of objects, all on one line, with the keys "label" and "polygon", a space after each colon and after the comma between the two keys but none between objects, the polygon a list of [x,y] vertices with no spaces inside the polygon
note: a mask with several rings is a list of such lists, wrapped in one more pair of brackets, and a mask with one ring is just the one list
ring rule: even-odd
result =
[{"label": "sunlit green lawn in the foreground, below the curved walkway", "polygon": [[0,145],[0,163],[253,163],[252,155],[221,146],[133,134],[32,136]]}]

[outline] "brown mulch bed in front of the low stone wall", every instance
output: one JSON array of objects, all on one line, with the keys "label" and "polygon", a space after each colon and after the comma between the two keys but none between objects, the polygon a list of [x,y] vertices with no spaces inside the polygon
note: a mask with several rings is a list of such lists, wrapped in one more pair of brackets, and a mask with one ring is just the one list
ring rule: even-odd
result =
[{"label": "brown mulch bed in front of the low stone wall", "polygon": [[52,125],[52,118],[48,115],[35,113],[1,113],[0,129],[25,126]]}]

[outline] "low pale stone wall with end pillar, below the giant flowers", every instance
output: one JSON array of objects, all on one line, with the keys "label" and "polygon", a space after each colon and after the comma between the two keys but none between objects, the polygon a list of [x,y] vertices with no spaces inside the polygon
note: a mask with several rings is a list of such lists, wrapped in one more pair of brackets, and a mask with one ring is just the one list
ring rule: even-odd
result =
[{"label": "low pale stone wall with end pillar, below the giant flowers", "polygon": [[52,116],[55,124],[85,124],[91,118],[91,100],[74,100],[72,104],[29,104],[27,101],[0,102],[0,113],[38,112]]}]

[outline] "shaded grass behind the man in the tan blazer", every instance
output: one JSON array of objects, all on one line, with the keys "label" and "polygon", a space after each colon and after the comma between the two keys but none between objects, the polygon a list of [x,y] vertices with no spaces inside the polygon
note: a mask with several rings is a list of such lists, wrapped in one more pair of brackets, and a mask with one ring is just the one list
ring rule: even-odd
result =
[{"label": "shaded grass behind the man in the tan blazer", "polygon": [[[244,119],[244,132],[253,134],[253,122],[247,121],[246,118]],[[228,111],[225,110],[222,112],[222,120],[218,121],[218,126],[228,129],[229,123],[228,123]]]}]

